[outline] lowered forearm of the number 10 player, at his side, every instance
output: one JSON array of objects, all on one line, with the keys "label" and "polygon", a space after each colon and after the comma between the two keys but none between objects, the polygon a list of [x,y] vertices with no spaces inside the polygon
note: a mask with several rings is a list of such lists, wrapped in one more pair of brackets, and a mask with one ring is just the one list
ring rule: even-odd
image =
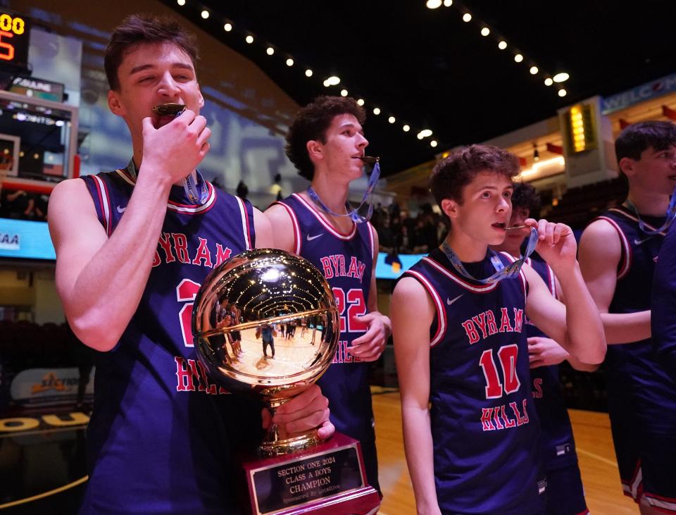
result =
[{"label": "lowered forearm of the number 10 player, at his side", "polygon": [[430,411],[425,407],[401,404],[403,444],[411,474],[418,515],[439,513],[434,486],[434,453],[430,430]]}]

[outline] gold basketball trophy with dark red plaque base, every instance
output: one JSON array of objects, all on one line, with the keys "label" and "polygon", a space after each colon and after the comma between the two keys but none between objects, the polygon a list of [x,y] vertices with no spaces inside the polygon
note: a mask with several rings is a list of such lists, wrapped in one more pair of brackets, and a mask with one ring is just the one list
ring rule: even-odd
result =
[{"label": "gold basketball trophy with dark red plaque base", "polygon": [[[274,413],[333,359],[336,300],[306,259],[277,249],[232,257],[208,275],[192,312],[197,354],[230,392],[253,392]],[[272,424],[259,456],[243,464],[251,514],[373,514],[380,497],[365,480],[357,440]]]}]

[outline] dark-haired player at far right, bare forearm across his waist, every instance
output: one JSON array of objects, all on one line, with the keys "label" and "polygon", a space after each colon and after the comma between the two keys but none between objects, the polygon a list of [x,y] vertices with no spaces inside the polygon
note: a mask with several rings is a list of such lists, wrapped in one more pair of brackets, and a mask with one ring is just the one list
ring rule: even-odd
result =
[{"label": "dark-haired player at far right, bare forearm across his waist", "polygon": [[676,185],[676,125],[634,123],[615,141],[627,200],[593,221],[580,267],[601,311],[608,411],[625,495],[643,514],[676,512],[676,389],[651,343],[651,285]]}]

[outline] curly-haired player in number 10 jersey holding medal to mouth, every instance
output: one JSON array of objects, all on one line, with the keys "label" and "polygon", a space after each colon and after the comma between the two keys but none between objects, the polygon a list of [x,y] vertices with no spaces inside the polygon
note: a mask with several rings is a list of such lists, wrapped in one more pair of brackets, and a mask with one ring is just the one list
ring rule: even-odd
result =
[{"label": "curly-haired player in number 10 jersey holding medal to mouth", "polygon": [[449,234],[394,288],[394,351],[418,514],[544,511],[525,315],[577,358],[594,364],[605,355],[568,226],[525,221],[537,227],[531,245],[537,241],[563,292],[576,299],[568,307],[530,266],[518,270],[513,257],[488,249],[505,239],[518,169],[513,154],[485,145],[437,163],[430,187],[450,218]]}]

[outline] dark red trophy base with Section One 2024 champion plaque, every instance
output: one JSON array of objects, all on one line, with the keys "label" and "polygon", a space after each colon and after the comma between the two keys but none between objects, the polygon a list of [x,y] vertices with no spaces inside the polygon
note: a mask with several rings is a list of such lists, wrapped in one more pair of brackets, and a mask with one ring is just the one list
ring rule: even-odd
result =
[{"label": "dark red trophy base with Section One 2024 champion plaque", "polygon": [[303,452],[243,466],[252,515],[371,515],[380,507],[365,480],[359,442],[340,433]]}]

